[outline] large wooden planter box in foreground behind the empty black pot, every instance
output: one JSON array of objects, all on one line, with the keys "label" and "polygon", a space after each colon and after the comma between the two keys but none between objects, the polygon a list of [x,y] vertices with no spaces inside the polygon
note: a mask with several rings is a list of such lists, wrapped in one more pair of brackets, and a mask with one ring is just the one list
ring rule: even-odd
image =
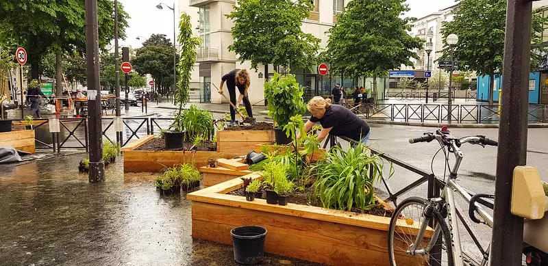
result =
[{"label": "large wooden planter box in foreground behind the empty black pot", "polygon": [[[258,173],[247,176],[261,178]],[[188,194],[193,238],[232,245],[232,228],[257,225],[268,230],[266,252],[328,265],[390,265],[390,218],[291,203],[266,204],[261,199],[249,202],[245,197],[226,194],[241,185],[242,180],[234,178]],[[399,229],[402,233],[418,231],[404,220]],[[428,230],[427,236],[431,234]],[[407,262],[401,265],[427,265],[423,258],[404,252],[399,256]]]}]

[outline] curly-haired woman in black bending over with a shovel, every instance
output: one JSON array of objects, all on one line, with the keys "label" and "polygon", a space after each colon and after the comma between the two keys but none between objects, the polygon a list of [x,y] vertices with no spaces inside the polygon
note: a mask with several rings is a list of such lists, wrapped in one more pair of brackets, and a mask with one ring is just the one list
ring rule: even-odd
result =
[{"label": "curly-haired woman in black bending over with a shovel", "polygon": [[[249,98],[247,96],[249,84],[251,84],[249,72],[247,72],[246,69],[236,68],[225,74],[223,77],[221,77],[221,87],[219,88],[219,94],[223,94],[223,85],[225,85],[225,82],[227,83],[230,102],[234,106],[236,106],[236,108],[238,108],[240,106],[240,103],[243,101],[245,105],[245,111],[247,111],[247,116],[249,116],[249,118],[253,118],[251,103],[249,103]],[[238,96],[238,101],[236,101],[236,87],[238,87],[238,92],[240,92],[240,96]],[[237,124],[236,110],[234,110],[232,105],[230,106],[230,118],[232,118],[232,121],[229,123],[229,125],[232,126]]]}]

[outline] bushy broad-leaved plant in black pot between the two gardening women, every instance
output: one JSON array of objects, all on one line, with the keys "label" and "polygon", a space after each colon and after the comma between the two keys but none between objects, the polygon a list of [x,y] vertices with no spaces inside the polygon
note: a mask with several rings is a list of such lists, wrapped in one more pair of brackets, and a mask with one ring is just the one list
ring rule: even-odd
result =
[{"label": "bushy broad-leaved plant in black pot between the two gardening women", "polygon": [[275,139],[277,144],[289,144],[290,139],[283,129],[292,116],[304,114],[306,105],[303,101],[303,88],[295,79],[295,75],[274,76],[264,83],[264,96],[268,102],[269,116],[275,122]]}]

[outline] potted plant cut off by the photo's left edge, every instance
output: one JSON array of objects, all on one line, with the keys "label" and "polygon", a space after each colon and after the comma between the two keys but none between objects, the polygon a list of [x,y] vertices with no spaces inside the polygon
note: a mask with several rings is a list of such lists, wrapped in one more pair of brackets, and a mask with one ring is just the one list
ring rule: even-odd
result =
[{"label": "potted plant cut off by the photo's left edge", "polygon": [[[16,66],[14,55],[5,47],[0,47],[0,77],[8,77],[8,72]],[[4,104],[10,101],[8,83],[0,82],[0,132],[12,131],[12,120],[8,120],[4,112]]]}]

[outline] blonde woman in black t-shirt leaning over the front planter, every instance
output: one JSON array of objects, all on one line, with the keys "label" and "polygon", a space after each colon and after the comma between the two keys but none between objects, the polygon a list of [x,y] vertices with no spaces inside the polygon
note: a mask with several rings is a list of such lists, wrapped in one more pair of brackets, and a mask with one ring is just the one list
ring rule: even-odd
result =
[{"label": "blonde woman in black t-shirt leaning over the front planter", "polygon": [[320,122],[323,129],[318,135],[318,140],[321,142],[327,134],[335,136],[349,137],[367,144],[371,137],[371,129],[369,124],[352,114],[349,109],[340,105],[331,105],[329,98],[324,99],[321,96],[316,96],[308,103],[308,111],[312,112],[310,120],[304,125],[304,129],[308,132],[316,122]]}]

